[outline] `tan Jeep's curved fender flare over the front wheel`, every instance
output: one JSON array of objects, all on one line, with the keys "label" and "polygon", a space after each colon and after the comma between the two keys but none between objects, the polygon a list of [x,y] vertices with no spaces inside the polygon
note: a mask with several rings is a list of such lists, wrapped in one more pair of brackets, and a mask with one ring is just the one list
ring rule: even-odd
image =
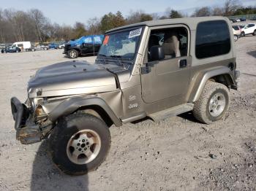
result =
[{"label": "tan Jeep's curved fender flare over the front wheel", "polygon": [[61,104],[56,106],[52,112],[49,113],[50,121],[55,122],[59,117],[67,116],[75,112],[82,106],[100,106],[108,114],[113,123],[119,127],[122,125],[121,120],[116,117],[116,114],[112,109],[106,104],[102,98],[92,97],[92,98],[83,98],[83,97],[74,97],[67,98],[65,101],[62,101]]}]

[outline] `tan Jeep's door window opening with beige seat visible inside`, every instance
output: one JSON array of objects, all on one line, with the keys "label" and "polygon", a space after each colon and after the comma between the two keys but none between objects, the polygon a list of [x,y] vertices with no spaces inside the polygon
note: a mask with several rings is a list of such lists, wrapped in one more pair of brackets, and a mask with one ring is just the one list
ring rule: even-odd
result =
[{"label": "tan Jeep's door window opening with beige seat visible inside", "polygon": [[151,61],[151,47],[153,46],[162,47],[165,60],[187,56],[187,29],[184,27],[176,27],[151,31],[148,40],[148,61]]}]

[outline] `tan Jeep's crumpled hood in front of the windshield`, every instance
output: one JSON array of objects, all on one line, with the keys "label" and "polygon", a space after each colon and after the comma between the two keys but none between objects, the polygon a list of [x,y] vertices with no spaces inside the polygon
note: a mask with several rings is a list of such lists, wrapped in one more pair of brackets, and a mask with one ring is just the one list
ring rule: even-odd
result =
[{"label": "tan Jeep's crumpled hood in front of the windshield", "polygon": [[[122,67],[110,69],[86,62],[68,61],[39,69],[28,85],[29,98],[102,93],[117,90],[118,72],[124,76]],[[125,80],[129,79],[129,72]],[[122,78],[123,80],[124,78]],[[117,77],[118,80],[118,77]]]}]

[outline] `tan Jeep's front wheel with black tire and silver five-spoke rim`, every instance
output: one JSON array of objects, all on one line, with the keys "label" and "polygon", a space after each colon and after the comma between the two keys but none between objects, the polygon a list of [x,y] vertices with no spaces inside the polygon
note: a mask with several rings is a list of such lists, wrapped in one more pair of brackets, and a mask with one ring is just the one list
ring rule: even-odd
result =
[{"label": "tan Jeep's front wheel with black tire and silver five-spoke rim", "polygon": [[[94,139],[89,137],[90,134],[96,135]],[[90,140],[97,140],[97,144],[89,144]],[[111,137],[105,122],[91,114],[77,113],[59,120],[48,141],[53,163],[61,171],[69,175],[83,175],[97,168],[105,160],[110,149]],[[83,152],[86,151],[91,151],[94,155],[85,157],[87,154]],[[80,154],[75,157],[74,153]]]}]

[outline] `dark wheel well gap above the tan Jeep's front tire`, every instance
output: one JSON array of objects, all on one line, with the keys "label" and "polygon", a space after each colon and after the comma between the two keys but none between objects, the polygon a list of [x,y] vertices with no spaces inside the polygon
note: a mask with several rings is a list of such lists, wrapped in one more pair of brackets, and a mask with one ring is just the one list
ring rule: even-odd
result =
[{"label": "dark wheel well gap above the tan Jeep's front tire", "polygon": [[92,114],[95,117],[98,117],[99,119],[104,121],[108,125],[108,127],[113,125],[113,121],[109,117],[108,113],[105,112],[105,110],[102,109],[102,107],[100,107],[100,106],[97,106],[97,105],[83,106],[83,107],[80,107],[75,112],[81,112],[81,113],[85,113],[85,114]]}]

